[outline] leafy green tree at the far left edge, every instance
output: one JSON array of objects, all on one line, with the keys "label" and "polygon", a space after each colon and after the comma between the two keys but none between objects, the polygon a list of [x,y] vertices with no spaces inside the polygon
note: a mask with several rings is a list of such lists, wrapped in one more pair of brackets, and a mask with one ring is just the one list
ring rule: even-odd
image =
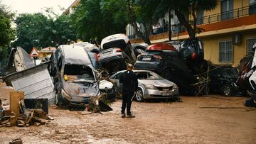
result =
[{"label": "leafy green tree at the far left edge", "polygon": [[11,40],[14,40],[15,31],[11,28],[11,19],[14,13],[9,12],[6,6],[0,4],[0,60],[7,55],[7,48]]}]

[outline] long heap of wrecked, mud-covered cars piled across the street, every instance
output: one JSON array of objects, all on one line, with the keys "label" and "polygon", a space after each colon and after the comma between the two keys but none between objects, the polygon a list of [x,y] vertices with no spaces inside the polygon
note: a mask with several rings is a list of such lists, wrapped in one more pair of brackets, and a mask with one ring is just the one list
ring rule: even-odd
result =
[{"label": "long heap of wrecked, mud-covered cars piled across the street", "polygon": [[[256,44],[254,50],[255,47]],[[22,48],[12,50],[10,56],[8,75],[4,77],[6,84],[23,90],[25,99],[43,97],[49,99],[49,104],[58,106],[89,104],[102,94],[115,99],[121,92],[119,77],[127,63],[134,64],[134,73],[139,79],[139,89],[134,96],[137,101],[173,99],[178,94],[197,96],[207,94],[208,88],[211,93],[224,96],[253,95],[256,89],[255,53],[254,57],[241,60],[240,71],[230,66],[208,66],[198,38],[148,46],[131,44],[127,35],[115,34],[103,38],[101,48],[87,42],[60,45],[50,61],[36,66]],[[27,77],[26,83],[32,88],[20,87],[18,77]],[[46,90],[41,92],[33,87]]]}]

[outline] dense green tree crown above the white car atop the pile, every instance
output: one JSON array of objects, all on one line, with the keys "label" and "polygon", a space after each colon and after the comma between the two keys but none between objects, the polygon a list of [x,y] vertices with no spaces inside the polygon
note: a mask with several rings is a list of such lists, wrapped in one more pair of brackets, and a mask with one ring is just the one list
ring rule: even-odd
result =
[{"label": "dense green tree crown above the white car atop the pile", "polygon": [[114,33],[124,33],[125,16],[117,11],[119,1],[82,0],[71,19],[78,38],[85,41],[97,41]]}]

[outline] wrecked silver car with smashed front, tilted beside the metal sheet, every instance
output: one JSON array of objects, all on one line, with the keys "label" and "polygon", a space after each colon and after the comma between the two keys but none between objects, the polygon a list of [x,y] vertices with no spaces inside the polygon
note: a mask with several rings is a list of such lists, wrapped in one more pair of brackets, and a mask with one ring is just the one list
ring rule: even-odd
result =
[{"label": "wrecked silver car with smashed front, tilted beside the metal sheet", "polygon": [[60,45],[51,61],[49,71],[53,76],[56,104],[88,104],[92,96],[100,95],[97,74],[85,48]]}]

